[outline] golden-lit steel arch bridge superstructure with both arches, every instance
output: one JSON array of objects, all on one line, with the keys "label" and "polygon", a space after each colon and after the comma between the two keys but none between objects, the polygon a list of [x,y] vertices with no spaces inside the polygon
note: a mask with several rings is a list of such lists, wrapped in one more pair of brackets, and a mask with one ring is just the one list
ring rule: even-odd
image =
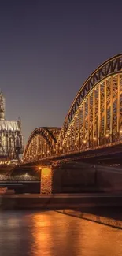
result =
[{"label": "golden-lit steel arch bridge superstructure with both arches", "polygon": [[57,130],[55,136],[50,128],[35,129],[24,158],[39,155],[42,159],[122,143],[122,54],[105,61],[83,83],[63,127]]}]

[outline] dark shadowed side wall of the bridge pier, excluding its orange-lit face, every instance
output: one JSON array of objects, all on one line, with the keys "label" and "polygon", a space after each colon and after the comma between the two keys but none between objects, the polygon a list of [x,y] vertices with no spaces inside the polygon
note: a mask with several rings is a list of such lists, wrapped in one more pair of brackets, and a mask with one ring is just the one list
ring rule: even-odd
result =
[{"label": "dark shadowed side wall of the bridge pier, excluding its orange-lit face", "polygon": [[52,193],[95,191],[95,169],[83,163],[52,166]]}]

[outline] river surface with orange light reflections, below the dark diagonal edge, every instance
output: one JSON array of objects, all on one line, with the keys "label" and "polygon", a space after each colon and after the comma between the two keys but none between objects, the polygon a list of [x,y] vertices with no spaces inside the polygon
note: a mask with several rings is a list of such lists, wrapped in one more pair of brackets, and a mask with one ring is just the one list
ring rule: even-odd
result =
[{"label": "river surface with orange light reflections, below the dark diagonal edge", "polygon": [[121,256],[122,231],[54,211],[0,212],[0,256]]}]

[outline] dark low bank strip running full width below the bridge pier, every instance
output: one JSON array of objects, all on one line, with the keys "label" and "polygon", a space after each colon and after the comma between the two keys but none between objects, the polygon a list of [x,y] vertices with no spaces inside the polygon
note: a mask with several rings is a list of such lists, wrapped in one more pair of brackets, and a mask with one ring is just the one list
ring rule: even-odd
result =
[{"label": "dark low bank strip running full width below the bridge pier", "polygon": [[0,195],[0,209],[76,209],[122,206],[122,194]]}]

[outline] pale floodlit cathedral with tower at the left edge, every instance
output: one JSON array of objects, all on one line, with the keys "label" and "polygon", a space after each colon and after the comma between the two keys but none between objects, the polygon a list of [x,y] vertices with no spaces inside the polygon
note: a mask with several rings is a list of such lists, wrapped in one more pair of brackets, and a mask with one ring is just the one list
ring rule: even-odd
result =
[{"label": "pale floodlit cathedral with tower at the left edge", "polygon": [[15,159],[24,150],[21,121],[6,121],[5,106],[5,97],[0,92],[0,158]]}]

